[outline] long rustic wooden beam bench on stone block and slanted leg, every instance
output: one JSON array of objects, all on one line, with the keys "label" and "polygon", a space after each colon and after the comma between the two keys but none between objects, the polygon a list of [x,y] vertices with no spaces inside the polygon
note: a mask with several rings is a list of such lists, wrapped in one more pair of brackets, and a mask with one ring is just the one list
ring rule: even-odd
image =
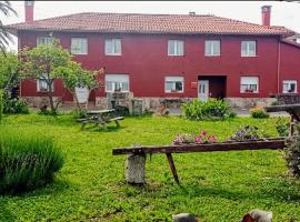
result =
[{"label": "long rustic wooden beam bench on stone block and slanted leg", "polygon": [[129,183],[139,184],[144,181],[146,155],[163,153],[169,162],[173,179],[179,183],[179,178],[172,153],[192,153],[192,152],[214,152],[214,151],[242,151],[242,150],[278,150],[284,148],[283,138],[273,138],[268,140],[254,140],[243,142],[220,142],[202,144],[183,144],[183,145],[163,145],[163,147],[134,147],[117,148],[112,150],[113,155],[127,154],[126,160],[126,180]]}]

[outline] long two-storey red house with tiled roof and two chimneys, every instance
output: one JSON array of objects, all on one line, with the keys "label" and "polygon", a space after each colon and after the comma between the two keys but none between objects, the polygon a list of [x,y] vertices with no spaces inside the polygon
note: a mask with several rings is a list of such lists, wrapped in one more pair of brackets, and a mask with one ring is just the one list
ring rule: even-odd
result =
[{"label": "long two-storey red house with tiled roof and two chimneys", "polygon": [[[106,92],[130,91],[156,108],[162,98],[224,98],[232,105],[263,105],[272,93],[298,93],[300,44],[296,33],[270,26],[271,7],[262,7],[262,26],[216,16],[77,13],[9,26],[19,48],[48,43],[50,33],[88,69],[106,68],[106,89],[90,101],[106,107]],[[20,94],[39,105],[47,88],[23,81]],[[60,80],[54,95],[72,101]]]}]

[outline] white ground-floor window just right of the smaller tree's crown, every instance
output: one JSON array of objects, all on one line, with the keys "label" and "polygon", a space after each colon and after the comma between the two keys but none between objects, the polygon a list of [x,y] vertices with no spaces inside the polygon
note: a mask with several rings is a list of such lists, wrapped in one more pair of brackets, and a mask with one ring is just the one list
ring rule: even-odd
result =
[{"label": "white ground-floor window just right of the smaller tree's crown", "polygon": [[106,92],[128,92],[129,75],[128,74],[106,74]]}]

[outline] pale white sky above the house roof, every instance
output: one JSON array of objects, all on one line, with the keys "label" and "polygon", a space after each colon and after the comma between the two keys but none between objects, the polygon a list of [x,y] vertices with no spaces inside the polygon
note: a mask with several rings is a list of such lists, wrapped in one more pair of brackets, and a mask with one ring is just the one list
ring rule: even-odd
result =
[{"label": "pale white sky above the house roof", "polygon": [[[24,2],[11,3],[18,16],[0,14],[0,20],[4,24],[23,22]],[[300,3],[287,1],[36,1],[34,20],[79,12],[188,14],[193,11],[261,24],[262,6],[272,6],[271,26],[283,26],[300,33]],[[9,49],[17,50],[16,43]]]}]

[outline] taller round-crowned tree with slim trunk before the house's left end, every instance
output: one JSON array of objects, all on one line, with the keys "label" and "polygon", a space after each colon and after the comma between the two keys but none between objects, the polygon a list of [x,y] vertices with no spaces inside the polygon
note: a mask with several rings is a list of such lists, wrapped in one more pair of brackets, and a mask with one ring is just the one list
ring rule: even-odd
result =
[{"label": "taller round-crowned tree with slim trunk before the house's left end", "polygon": [[54,104],[52,84],[54,79],[60,78],[57,69],[68,67],[71,54],[63,49],[59,41],[52,38],[50,44],[39,44],[33,49],[24,48],[20,51],[20,72],[27,79],[40,79],[47,84],[47,95],[51,112],[57,113],[59,101]]}]

